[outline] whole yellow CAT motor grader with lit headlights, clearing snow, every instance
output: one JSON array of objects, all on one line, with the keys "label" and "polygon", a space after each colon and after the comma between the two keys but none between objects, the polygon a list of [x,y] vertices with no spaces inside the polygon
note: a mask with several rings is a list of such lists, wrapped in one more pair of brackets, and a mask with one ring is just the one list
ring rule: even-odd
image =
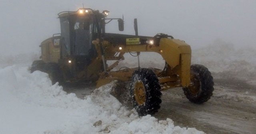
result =
[{"label": "whole yellow CAT motor grader with lit headlights, clearing snow", "polygon": [[[182,87],[187,99],[197,104],[210,99],[213,78],[203,65],[191,65],[190,45],[163,33],[140,36],[136,19],[135,35],[107,33],[105,26],[113,20],[124,30],[123,18],[107,18],[108,14],[90,8],[60,12],[61,33],[40,44],[41,60],[32,63],[31,72],[48,73],[53,84],[94,81],[100,87],[114,80],[130,81],[130,97],[140,116],[158,111],[166,89]],[[138,57],[138,67],[112,71],[131,52]],[[159,53],[164,69],[140,68],[140,52]]]}]

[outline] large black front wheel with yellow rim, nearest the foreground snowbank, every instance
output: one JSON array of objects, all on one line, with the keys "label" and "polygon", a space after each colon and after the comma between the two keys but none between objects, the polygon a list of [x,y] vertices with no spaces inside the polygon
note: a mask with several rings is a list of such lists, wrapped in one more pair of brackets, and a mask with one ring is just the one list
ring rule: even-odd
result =
[{"label": "large black front wheel with yellow rim, nearest the foreground snowbank", "polygon": [[158,112],[162,102],[160,90],[159,80],[152,70],[134,71],[130,82],[130,97],[140,116],[153,115]]}]

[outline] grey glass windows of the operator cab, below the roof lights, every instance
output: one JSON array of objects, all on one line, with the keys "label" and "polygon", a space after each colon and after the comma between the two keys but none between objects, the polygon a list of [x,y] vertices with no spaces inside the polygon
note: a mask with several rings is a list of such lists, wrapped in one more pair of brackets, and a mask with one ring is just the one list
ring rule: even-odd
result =
[{"label": "grey glass windows of the operator cab, below the roof lights", "polygon": [[92,16],[67,16],[60,18],[62,55],[89,56],[92,49],[92,36],[95,31]]}]

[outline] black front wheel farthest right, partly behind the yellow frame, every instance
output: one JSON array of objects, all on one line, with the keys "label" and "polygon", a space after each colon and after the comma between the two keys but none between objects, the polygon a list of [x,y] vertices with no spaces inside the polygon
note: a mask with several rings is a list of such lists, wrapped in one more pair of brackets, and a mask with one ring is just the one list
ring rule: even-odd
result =
[{"label": "black front wheel farthest right, partly behind the yellow frame", "polygon": [[203,65],[191,65],[191,83],[188,87],[182,88],[186,98],[196,104],[208,101],[214,91],[214,82],[210,71]]}]

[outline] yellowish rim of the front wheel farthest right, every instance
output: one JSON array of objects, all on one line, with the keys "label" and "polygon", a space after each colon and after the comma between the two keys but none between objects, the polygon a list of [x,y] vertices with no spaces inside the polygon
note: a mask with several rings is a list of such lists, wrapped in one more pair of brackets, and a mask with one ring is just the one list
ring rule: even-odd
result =
[{"label": "yellowish rim of the front wheel farthest right", "polygon": [[200,91],[200,81],[196,75],[191,74],[190,75],[190,85],[188,86],[188,89],[192,95],[197,95]]}]

